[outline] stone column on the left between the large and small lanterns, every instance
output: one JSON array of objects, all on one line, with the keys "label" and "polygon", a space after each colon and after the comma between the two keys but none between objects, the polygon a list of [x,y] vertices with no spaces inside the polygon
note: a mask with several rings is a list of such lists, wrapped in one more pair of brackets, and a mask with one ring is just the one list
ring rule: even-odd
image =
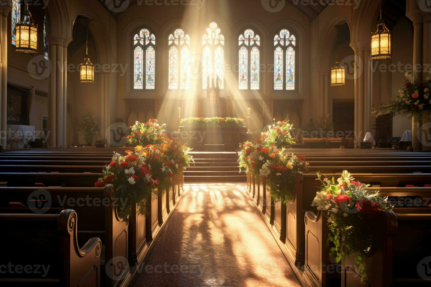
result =
[{"label": "stone column on the left between the large and small lanterns", "polygon": [[66,147],[66,75],[67,75],[67,45],[72,39],[67,37],[50,37],[50,61],[51,74],[49,77],[49,100],[50,100],[50,147],[61,145]]}]

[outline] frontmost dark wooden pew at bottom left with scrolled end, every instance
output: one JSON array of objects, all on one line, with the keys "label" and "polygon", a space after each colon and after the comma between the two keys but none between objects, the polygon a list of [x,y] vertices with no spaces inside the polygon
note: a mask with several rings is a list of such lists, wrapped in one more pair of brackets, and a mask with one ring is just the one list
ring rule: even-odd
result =
[{"label": "frontmost dark wooden pew at bottom left with scrolled end", "polygon": [[100,238],[91,238],[79,248],[74,210],[0,214],[0,222],[8,234],[2,237],[1,264],[14,268],[0,272],[2,285],[100,286]]}]

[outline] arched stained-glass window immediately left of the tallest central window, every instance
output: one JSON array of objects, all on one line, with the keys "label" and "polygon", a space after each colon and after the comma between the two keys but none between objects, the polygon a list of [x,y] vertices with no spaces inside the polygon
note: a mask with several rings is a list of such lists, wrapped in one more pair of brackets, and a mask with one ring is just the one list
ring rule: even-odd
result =
[{"label": "arched stained-glass window immediately left of the tallest central window", "polygon": [[169,89],[190,89],[190,37],[177,29],[168,40]]}]

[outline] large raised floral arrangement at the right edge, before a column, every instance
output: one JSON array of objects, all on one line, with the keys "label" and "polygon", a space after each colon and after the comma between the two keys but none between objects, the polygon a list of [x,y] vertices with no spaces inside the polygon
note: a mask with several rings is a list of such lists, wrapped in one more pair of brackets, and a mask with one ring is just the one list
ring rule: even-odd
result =
[{"label": "large raised floral arrangement at the right edge, before a column", "polygon": [[431,113],[431,72],[424,81],[415,80],[409,72],[405,74],[406,84],[393,96],[390,102],[377,107],[376,117],[385,114],[403,115],[422,118],[424,114]]}]

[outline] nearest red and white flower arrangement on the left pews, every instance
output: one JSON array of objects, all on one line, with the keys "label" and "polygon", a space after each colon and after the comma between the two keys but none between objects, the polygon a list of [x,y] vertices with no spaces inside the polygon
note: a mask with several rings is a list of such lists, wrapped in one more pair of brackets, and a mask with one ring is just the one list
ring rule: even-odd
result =
[{"label": "nearest red and white flower arrangement on the left pews", "polygon": [[160,179],[155,167],[148,164],[146,154],[141,146],[135,151],[126,151],[125,156],[115,153],[110,164],[103,168],[103,177],[94,184],[104,187],[113,184],[117,189],[117,196],[125,204],[122,210],[117,210],[122,221],[128,222],[129,215],[136,204],[137,212],[147,214],[148,201],[151,192],[157,190]]}]

